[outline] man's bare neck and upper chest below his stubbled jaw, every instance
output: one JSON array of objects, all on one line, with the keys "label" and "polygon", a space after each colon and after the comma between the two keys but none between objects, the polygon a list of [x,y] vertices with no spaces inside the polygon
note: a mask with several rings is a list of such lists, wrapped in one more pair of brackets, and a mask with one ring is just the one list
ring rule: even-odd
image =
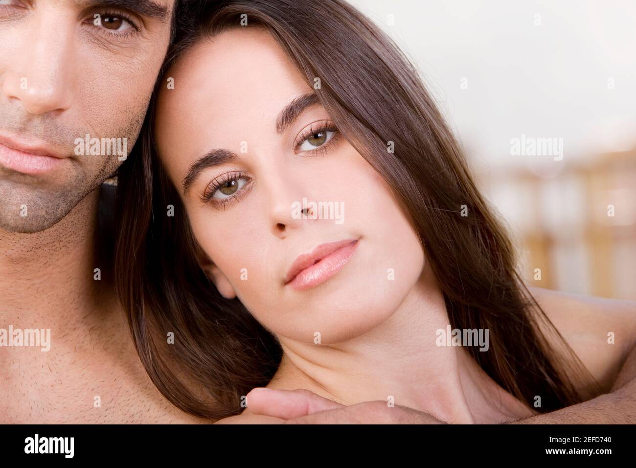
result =
[{"label": "man's bare neck and upper chest below his stubbled jaw", "polygon": [[[0,230],[0,423],[202,422],[163,398],[139,362],[100,260],[112,255],[98,255],[100,195],[43,232]],[[10,327],[50,329],[50,349],[17,344]]]}]

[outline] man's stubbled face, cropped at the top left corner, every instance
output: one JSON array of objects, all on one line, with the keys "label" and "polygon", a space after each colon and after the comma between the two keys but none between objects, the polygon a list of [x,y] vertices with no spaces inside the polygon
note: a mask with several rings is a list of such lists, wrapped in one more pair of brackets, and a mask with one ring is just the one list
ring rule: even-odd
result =
[{"label": "man's stubbled face, cropped at the top left corner", "polygon": [[174,0],[0,0],[0,229],[47,229],[125,160],[173,8]]}]

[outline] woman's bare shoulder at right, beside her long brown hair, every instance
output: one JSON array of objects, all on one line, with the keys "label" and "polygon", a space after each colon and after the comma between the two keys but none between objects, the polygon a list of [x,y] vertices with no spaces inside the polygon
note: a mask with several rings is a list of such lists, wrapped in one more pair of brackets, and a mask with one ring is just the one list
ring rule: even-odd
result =
[{"label": "woman's bare shoulder at right, beside her long brown hair", "polygon": [[636,344],[636,302],[529,290],[583,364],[609,390]]}]

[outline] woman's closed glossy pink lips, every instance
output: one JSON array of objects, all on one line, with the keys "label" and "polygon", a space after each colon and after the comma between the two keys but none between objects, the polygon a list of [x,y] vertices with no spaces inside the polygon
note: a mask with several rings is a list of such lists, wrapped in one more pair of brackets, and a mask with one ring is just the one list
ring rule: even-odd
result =
[{"label": "woman's closed glossy pink lips", "polygon": [[299,255],[287,272],[285,285],[305,290],[324,283],[349,262],[357,243],[358,239],[326,243]]}]

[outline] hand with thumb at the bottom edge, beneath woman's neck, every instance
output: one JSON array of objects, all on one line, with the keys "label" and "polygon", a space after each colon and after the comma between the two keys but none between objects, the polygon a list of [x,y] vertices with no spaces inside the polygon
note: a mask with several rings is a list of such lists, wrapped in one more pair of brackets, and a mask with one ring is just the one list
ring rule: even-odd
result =
[{"label": "hand with thumb at the bottom edge, beneath woman's neck", "polygon": [[247,394],[247,406],[255,415],[281,418],[286,424],[444,424],[415,409],[389,408],[385,401],[343,406],[302,389],[254,388]]}]

